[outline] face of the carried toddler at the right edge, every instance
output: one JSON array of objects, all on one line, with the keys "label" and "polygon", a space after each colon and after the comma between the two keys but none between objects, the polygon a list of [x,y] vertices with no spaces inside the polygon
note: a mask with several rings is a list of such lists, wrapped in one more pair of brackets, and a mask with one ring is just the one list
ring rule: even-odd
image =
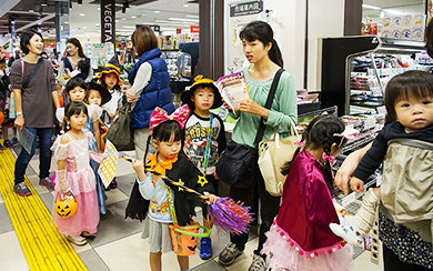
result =
[{"label": "face of the carried toddler at the right edge", "polygon": [[433,126],[433,97],[401,99],[394,106],[396,118],[406,132],[416,132]]}]

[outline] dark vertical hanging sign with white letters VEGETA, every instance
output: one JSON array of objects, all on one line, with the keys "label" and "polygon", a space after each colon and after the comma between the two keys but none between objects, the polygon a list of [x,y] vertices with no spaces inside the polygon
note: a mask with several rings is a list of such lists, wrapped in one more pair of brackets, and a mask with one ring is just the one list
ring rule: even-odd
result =
[{"label": "dark vertical hanging sign with white letters VEGETA", "polygon": [[101,0],[101,43],[115,43],[115,0]]}]

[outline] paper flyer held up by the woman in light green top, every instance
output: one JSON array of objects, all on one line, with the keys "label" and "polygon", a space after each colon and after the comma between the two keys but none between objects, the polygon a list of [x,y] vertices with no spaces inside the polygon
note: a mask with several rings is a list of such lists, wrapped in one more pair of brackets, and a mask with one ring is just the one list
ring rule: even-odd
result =
[{"label": "paper flyer held up by the woman in light green top", "polygon": [[229,103],[232,110],[239,110],[240,102],[250,99],[243,71],[221,77],[216,80],[215,86],[220,90],[222,99]]}]

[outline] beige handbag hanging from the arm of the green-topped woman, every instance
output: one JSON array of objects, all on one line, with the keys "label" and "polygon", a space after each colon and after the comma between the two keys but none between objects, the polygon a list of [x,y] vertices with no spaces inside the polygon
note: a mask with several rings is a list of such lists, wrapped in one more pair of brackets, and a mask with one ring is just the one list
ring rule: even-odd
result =
[{"label": "beige handbag hanging from the arm of the green-topped woman", "polygon": [[294,129],[293,120],[290,118],[292,126],[292,136],[280,139],[278,132],[273,132],[271,138],[263,140],[259,144],[259,168],[264,179],[264,185],[268,192],[274,197],[283,194],[285,175],[281,173],[281,167],[288,161],[292,161],[301,138]]}]

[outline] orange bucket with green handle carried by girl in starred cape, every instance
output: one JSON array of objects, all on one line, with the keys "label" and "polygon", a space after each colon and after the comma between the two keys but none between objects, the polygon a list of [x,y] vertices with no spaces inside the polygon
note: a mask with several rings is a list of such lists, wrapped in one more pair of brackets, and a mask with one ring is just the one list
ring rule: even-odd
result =
[{"label": "orange bucket with green handle carried by girl in starred cape", "polygon": [[[178,255],[193,255],[195,254],[198,238],[209,237],[211,230],[200,225],[195,221],[191,221],[190,225],[174,225],[170,224],[171,241],[173,242],[174,253]],[[203,233],[199,233],[199,229],[204,230]]]}]

